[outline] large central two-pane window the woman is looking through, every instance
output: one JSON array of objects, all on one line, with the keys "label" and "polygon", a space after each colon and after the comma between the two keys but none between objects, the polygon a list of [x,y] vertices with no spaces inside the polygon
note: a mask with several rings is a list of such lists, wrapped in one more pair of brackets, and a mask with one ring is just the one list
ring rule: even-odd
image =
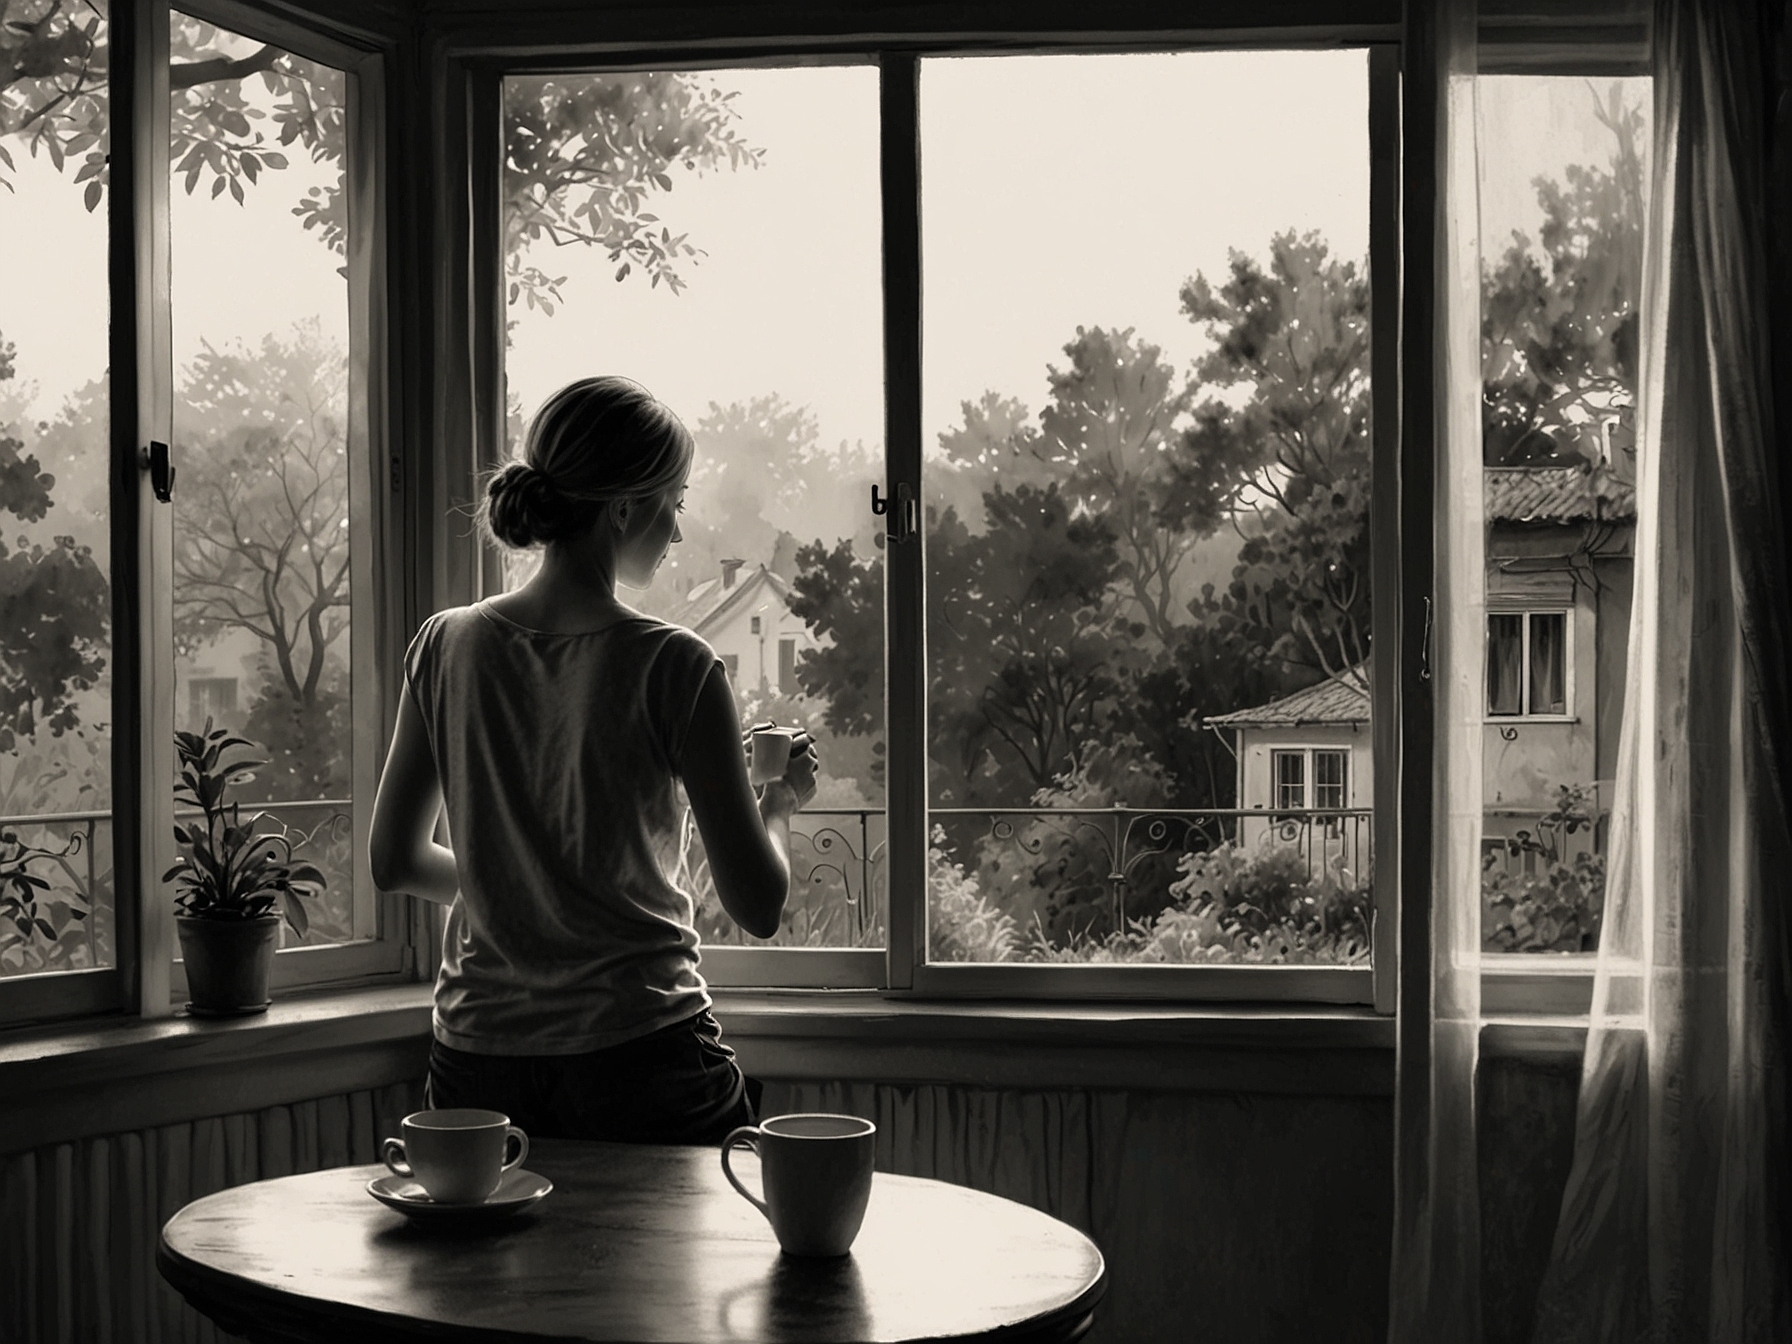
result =
[{"label": "large central two-pane window the woman is looking through", "polygon": [[[697,464],[631,600],[710,640],[744,720],[819,738],[774,939],[686,846],[704,975],[1374,1002],[1394,771],[1349,783],[1348,855],[1324,819],[1283,844],[1204,720],[1367,728],[1392,683],[1392,48],[805,47],[464,66],[502,387],[468,466],[577,376],[643,382]],[[1342,756],[1303,756],[1305,815],[1346,812]]]}]

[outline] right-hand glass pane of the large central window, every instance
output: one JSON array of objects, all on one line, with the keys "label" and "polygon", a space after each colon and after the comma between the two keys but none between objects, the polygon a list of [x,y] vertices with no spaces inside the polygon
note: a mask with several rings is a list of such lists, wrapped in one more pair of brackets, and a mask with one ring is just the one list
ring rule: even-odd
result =
[{"label": "right-hand glass pane of the large central window", "polygon": [[921,63],[932,961],[1367,961],[1242,824],[1369,722],[1367,124],[1362,52]]}]

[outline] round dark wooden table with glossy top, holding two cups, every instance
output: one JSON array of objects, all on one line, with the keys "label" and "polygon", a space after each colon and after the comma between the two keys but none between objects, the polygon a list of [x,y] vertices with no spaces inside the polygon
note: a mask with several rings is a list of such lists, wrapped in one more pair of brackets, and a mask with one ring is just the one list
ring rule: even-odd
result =
[{"label": "round dark wooden table with glossy top, holding two cups", "polygon": [[[758,1188],[751,1152],[737,1172]],[[539,1140],[554,1181],[484,1229],[423,1228],[366,1190],[383,1167],[220,1190],[161,1229],[156,1265],[258,1344],[1075,1340],[1107,1287],[1100,1251],[1038,1210],[878,1174],[853,1253],[801,1260],[708,1147]]]}]

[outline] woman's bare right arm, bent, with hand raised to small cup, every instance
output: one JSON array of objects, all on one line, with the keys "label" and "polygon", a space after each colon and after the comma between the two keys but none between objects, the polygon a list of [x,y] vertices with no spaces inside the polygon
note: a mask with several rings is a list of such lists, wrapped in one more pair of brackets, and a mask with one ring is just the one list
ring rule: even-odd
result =
[{"label": "woman's bare right arm, bent, with hand raised to small cup", "polygon": [[790,892],[790,814],[815,790],[808,742],[792,744],[790,774],[754,797],[735,694],[715,667],[685,735],[683,776],[722,909],[754,937],[772,937]]}]

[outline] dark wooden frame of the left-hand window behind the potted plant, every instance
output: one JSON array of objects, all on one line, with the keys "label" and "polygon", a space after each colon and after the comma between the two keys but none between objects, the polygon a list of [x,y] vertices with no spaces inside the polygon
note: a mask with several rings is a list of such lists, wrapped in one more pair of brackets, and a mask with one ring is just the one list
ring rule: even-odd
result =
[{"label": "dark wooden frame of the left-hand window behind the potted plant", "polygon": [[[375,470],[396,455],[387,276],[389,116],[387,68],[394,47],[324,20],[297,22],[242,0],[113,0],[108,43],[111,86],[111,185],[108,274],[111,294],[111,590],[113,590],[113,901],[115,966],[0,980],[0,1025],[97,1012],[170,1016],[186,996],[177,957],[174,903],[159,874],[174,862],[174,618],[172,509],[149,486],[142,446],[174,443],[172,324],[168,265],[168,18],[179,9],[254,41],[340,70],[346,77],[344,194],[351,217],[346,247],[349,296],[349,538],[357,634],[351,685],[383,722],[394,717],[391,677],[407,577],[403,523],[394,502],[401,475]],[[174,443],[179,466],[181,446]],[[340,946],[283,948],[271,987],[375,984],[414,978],[428,934],[410,901],[376,892],[367,871],[367,821],[385,733],[355,735],[353,833],[357,935]]]}]

